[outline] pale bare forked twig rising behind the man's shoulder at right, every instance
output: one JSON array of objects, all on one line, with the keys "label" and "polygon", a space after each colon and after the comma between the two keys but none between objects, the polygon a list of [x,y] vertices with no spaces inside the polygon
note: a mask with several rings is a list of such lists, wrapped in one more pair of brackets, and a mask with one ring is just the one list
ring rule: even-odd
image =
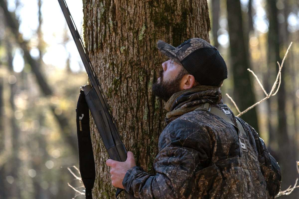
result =
[{"label": "pale bare forked twig rising behind the man's shoulder at right", "polygon": [[[254,74],[254,72],[252,70],[250,70],[249,68],[247,69],[249,72],[251,72],[254,77],[257,79],[257,82],[259,83],[260,87],[262,88],[262,90],[264,91],[264,93],[266,94],[266,97],[261,99],[260,101],[256,102],[255,104],[251,105],[250,107],[248,107],[247,109],[245,109],[244,111],[240,112],[239,110],[239,107],[237,106],[237,104],[235,103],[235,101],[233,100],[233,98],[231,98],[227,93],[226,95],[228,96],[228,98],[232,101],[232,103],[234,104],[234,106],[236,107],[237,111],[239,112],[239,114],[237,115],[237,117],[243,115],[245,112],[249,111],[250,109],[252,109],[253,107],[257,106],[258,104],[262,103],[263,101],[265,101],[266,99],[270,98],[271,96],[274,96],[276,95],[276,93],[278,92],[279,90],[279,87],[280,87],[280,83],[281,83],[281,70],[282,70],[282,67],[283,67],[283,63],[286,59],[286,55],[288,55],[289,53],[289,49],[291,48],[293,42],[290,43],[288,49],[286,50],[286,54],[284,55],[283,57],[283,60],[281,62],[281,64],[279,64],[279,62],[277,61],[277,64],[278,64],[278,67],[279,67],[279,70],[278,70],[278,73],[277,73],[277,76],[276,76],[276,80],[274,81],[274,84],[271,88],[271,91],[269,93],[266,92],[266,90],[264,89],[263,85],[261,84],[259,78],[257,77],[257,75]],[[277,86],[277,89],[275,90],[276,88],[276,85],[278,83],[278,86]],[[274,92],[275,90],[275,92]]]}]

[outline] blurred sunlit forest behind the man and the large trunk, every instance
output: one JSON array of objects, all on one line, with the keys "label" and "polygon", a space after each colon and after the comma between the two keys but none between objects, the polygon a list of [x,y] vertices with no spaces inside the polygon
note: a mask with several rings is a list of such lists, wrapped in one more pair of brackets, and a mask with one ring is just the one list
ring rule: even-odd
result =
[{"label": "blurred sunlit forest behind the man and the large trunk", "polygon": [[[65,1],[83,38],[83,3]],[[228,66],[222,96],[236,115],[225,93],[241,111],[264,98],[247,68],[269,93],[277,75],[276,62],[281,63],[293,41],[277,95],[241,117],[257,130],[280,164],[284,190],[299,177],[299,1],[208,0],[208,8],[210,42]],[[76,173],[73,166],[78,167],[75,108],[79,88],[86,83],[86,72],[57,1],[0,0],[1,199],[84,198],[68,183],[83,190],[70,170]],[[111,92],[106,91],[109,98]],[[298,195],[295,189],[281,198]]]}]

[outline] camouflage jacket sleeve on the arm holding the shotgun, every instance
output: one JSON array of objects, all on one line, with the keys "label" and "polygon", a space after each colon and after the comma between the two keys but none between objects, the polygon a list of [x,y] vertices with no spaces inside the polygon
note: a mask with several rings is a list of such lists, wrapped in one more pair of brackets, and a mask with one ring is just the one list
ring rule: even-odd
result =
[{"label": "camouflage jacket sleeve on the arm holding the shotgun", "polygon": [[206,132],[185,120],[172,121],[160,135],[159,149],[156,175],[138,166],[129,169],[123,180],[126,191],[135,198],[194,198],[195,172],[210,157]]}]

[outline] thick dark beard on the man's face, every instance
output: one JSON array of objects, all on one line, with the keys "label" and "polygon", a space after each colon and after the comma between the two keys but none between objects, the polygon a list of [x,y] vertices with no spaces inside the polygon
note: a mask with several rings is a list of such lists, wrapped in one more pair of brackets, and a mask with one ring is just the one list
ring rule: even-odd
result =
[{"label": "thick dark beard on the man's face", "polygon": [[174,93],[181,91],[180,82],[182,77],[181,75],[177,75],[174,80],[164,82],[163,71],[164,70],[159,71],[160,82],[155,82],[155,84],[152,85],[152,92],[167,102]]}]

